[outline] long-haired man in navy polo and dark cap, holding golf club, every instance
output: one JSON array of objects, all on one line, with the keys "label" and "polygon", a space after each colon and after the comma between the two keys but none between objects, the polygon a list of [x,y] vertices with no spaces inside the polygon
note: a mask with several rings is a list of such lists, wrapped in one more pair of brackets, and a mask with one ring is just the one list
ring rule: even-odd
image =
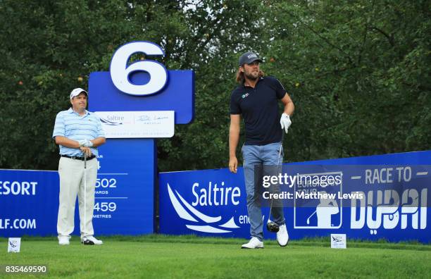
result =
[{"label": "long-haired man in navy polo and dark cap, holding golf club", "polygon": [[[244,180],[247,194],[251,240],[242,248],[263,248],[261,200],[254,185],[255,166],[277,166],[282,151],[282,132],[287,133],[294,104],[285,88],[275,77],[265,77],[259,68],[261,59],[253,52],[239,57],[237,82],[230,97],[229,169],[237,173],[236,155],[239,142],[240,116],[244,119],[246,139],[242,147]],[[284,104],[280,117],[278,102]],[[281,153],[282,154],[282,153]],[[281,155],[282,162],[282,155]],[[286,246],[289,241],[282,206],[273,206],[273,221],[279,225],[277,242]]]}]

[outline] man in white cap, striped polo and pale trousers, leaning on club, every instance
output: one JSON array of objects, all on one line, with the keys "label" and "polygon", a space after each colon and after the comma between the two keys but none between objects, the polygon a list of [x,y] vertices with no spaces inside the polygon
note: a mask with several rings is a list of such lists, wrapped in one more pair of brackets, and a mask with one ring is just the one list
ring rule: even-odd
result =
[{"label": "man in white cap, striped polo and pale trousers, leaning on club", "polygon": [[72,107],[57,114],[52,135],[60,146],[61,156],[58,164],[60,204],[57,220],[58,244],[61,245],[68,245],[73,233],[76,197],[80,207],[81,242],[103,243],[94,237],[92,220],[99,166],[97,147],[106,139],[99,117],[86,110],[87,98],[88,93],[84,89],[75,88],[70,92]]}]

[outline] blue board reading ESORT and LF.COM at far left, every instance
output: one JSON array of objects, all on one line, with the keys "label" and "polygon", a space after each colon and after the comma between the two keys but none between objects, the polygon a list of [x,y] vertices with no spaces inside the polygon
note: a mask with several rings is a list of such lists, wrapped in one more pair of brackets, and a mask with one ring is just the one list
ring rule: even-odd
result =
[{"label": "blue board reading ESORT and LF.COM at far left", "polygon": [[0,236],[56,235],[56,171],[0,171]]}]

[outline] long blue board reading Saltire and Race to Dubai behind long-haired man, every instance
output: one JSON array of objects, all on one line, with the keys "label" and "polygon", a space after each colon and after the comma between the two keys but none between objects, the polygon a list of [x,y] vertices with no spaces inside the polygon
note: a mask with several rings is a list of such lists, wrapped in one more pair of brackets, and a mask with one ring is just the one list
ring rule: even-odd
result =
[{"label": "long blue board reading Saltire and Race to Dubai behind long-haired man", "polygon": [[[262,178],[263,223],[274,199],[293,240],[344,234],[431,242],[430,158],[421,151],[285,164],[279,175]],[[242,168],[161,173],[160,233],[249,238],[243,175]],[[263,233],[275,238],[265,225]]]}]

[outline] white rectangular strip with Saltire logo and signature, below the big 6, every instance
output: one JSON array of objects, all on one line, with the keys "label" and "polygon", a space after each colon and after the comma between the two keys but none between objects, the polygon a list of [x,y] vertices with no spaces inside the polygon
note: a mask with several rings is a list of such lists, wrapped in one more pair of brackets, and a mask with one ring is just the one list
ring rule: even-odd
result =
[{"label": "white rectangular strip with Saltire logo and signature, below the big 6", "polygon": [[96,111],[106,138],[173,137],[175,111]]}]

